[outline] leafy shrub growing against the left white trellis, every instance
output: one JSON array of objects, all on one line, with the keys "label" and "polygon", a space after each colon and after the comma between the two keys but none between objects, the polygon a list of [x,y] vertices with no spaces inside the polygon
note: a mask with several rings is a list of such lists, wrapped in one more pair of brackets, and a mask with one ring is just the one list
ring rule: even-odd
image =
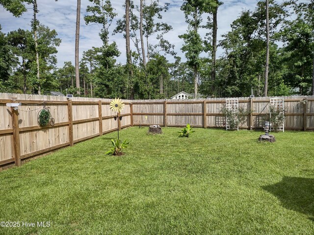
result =
[{"label": "leafy shrub growing against the left white trellis", "polygon": [[236,110],[229,110],[226,107],[221,109],[221,113],[226,116],[226,121],[230,126],[230,129],[235,130],[237,127],[246,121],[248,115],[250,115],[253,110],[248,110],[244,108],[237,108]]}]

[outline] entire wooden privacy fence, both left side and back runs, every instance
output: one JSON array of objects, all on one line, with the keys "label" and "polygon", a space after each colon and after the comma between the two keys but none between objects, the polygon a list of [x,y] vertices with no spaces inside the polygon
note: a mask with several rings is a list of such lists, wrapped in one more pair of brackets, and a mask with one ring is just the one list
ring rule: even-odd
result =
[{"label": "entire wooden privacy fence, both left side and back runs", "polygon": [[[262,128],[269,112],[270,97],[241,97],[239,107],[252,109],[241,128]],[[289,96],[285,129],[314,130],[314,96]],[[307,100],[304,102],[304,100]],[[22,103],[18,111],[6,103]],[[117,124],[109,109],[110,99],[0,93],[0,167],[49,151],[72,146],[105,133],[133,125],[225,127],[221,113],[225,98],[192,100],[124,100],[125,108]],[[53,126],[40,127],[38,112],[44,104],[55,119]]]}]

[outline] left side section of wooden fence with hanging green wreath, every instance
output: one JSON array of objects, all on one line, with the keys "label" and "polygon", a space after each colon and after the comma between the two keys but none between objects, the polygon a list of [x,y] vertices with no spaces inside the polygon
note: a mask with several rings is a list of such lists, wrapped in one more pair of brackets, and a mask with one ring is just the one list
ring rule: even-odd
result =
[{"label": "left side section of wooden fence with hanging green wreath", "polygon": [[[110,99],[0,93],[0,167],[20,165],[21,160],[72,146],[105,133],[131,126],[131,102],[126,104],[119,124],[109,108]],[[22,103],[18,111],[6,103]],[[38,113],[49,108],[53,126],[40,127]]]}]

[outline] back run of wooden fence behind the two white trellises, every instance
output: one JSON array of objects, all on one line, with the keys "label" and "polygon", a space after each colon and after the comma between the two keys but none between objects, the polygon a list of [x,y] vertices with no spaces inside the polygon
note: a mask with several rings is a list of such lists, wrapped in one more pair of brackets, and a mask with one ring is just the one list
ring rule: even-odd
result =
[{"label": "back run of wooden fence behind the two white trellises", "polygon": [[[239,107],[252,109],[240,128],[262,128],[269,113],[271,97],[241,97]],[[285,129],[314,130],[314,96],[285,96],[288,110]],[[306,100],[306,102],[304,102]],[[132,100],[133,125],[158,124],[162,126],[224,127],[226,119],[221,113],[226,98],[189,100]]]}]

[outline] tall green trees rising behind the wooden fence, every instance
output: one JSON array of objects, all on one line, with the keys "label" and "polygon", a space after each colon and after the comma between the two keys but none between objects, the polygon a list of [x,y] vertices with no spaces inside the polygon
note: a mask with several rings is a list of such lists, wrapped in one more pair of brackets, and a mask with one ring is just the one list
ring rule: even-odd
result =
[{"label": "tall green trees rising behind the wooden fence", "polygon": [[[181,10],[187,30],[179,37],[185,62],[164,38],[172,30],[162,21],[169,3],[126,0],[121,6],[125,15],[113,25],[117,14],[110,0],[89,0],[83,19],[100,25],[103,45],[91,47],[75,65],[65,62],[62,68],[56,68],[61,40],[36,18],[36,0],[0,0],[0,4],[13,17],[21,16],[28,5],[33,9],[30,31],[19,28],[5,34],[0,27],[0,92],[60,91],[131,99],[170,98],[181,91],[210,97],[248,96],[251,90],[256,96],[314,94],[314,0],[281,4],[261,0],[254,10],[243,10],[220,41],[217,12],[223,2],[184,0]],[[110,40],[110,27],[126,40],[124,65],[116,63],[121,52]],[[205,37],[200,30],[206,30]],[[224,50],[219,58],[217,47]],[[202,52],[208,56],[201,57]],[[169,55],[173,63],[167,60]]]}]

